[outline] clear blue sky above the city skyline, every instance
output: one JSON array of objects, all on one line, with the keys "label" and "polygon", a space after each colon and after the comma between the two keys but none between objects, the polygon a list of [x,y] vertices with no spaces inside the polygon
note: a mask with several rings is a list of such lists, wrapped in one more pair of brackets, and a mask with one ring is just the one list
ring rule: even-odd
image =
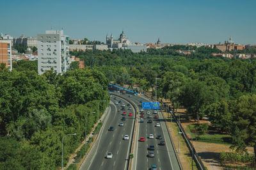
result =
[{"label": "clear blue sky above the city skyline", "polygon": [[36,36],[61,29],[105,42],[122,30],[132,42],[256,44],[256,0],[42,0],[1,3],[0,32]]}]

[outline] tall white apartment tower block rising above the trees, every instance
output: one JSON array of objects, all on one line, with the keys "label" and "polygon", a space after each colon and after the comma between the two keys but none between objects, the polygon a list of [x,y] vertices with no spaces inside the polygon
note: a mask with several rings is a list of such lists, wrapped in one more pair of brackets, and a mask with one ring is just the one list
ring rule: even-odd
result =
[{"label": "tall white apartment tower block rising above the trees", "polygon": [[47,30],[45,34],[37,35],[38,73],[45,70],[53,70],[57,73],[65,73],[69,69],[69,42],[68,36],[60,31]]}]

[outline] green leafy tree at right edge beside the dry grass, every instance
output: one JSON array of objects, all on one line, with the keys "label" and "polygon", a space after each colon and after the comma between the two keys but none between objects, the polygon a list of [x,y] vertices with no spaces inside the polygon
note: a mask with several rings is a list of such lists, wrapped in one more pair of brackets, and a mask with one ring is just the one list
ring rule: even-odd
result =
[{"label": "green leafy tree at right edge beside the dry grass", "polygon": [[[236,111],[234,116],[234,131],[233,136],[236,133],[240,133],[242,143],[234,141],[233,146],[244,149],[245,146],[252,146],[254,148],[254,154],[256,158],[256,95],[248,94],[243,95],[237,100]],[[239,129],[239,130],[238,130]],[[240,141],[241,141],[240,140]],[[245,143],[246,145],[244,145]],[[256,159],[255,159],[256,160]]]}]

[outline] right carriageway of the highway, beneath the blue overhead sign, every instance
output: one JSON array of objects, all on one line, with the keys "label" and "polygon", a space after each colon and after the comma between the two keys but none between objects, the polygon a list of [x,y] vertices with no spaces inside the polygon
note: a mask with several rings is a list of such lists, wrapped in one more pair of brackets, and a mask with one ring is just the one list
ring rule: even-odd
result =
[{"label": "right carriageway of the highway, beneath the blue overhead sign", "polygon": [[[128,95],[122,95],[122,97],[128,98]],[[145,97],[140,96],[132,96],[129,98],[141,109],[140,101],[143,102],[152,102]],[[147,114],[147,111],[150,111],[150,114]],[[159,119],[154,119],[154,116],[158,115]],[[152,110],[144,109],[143,123],[138,123],[138,128],[136,132],[136,154],[134,154],[135,168],[136,170],[140,169],[150,169],[152,165],[157,165],[158,169],[180,169],[177,158],[175,157],[175,153],[172,147],[172,143],[170,141],[170,137],[168,135],[168,131],[166,125],[163,120],[163,115],[161,112],[157,112],[157,114],[152,114]],[[150,117],[150,118],[148,118]],[[147,123],[147,121],[151,119],[152,123]],[[138,118],[140,120],[140,118]],[[160,123],[161,127],[155,127],[156,123]],[[154,135],[154,139],[149,139],[149,134]],[[157,135],[161,135],[163,139],[156,139]],[[140,137],[145,137],[145,142],[138,141]],[[160,141],[165,141],[165,145],[159,145]],[[155,150],[154,158],[148,157],[148,147],[150,145],[154,145]]]}]

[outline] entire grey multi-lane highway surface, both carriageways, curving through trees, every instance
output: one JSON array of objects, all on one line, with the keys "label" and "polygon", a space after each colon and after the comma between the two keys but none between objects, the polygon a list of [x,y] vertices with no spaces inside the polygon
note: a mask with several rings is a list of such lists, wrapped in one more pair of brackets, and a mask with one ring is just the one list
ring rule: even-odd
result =
[{"label": "entire grey multi-lane highway surface, both carriageways, curving through trees", "polygon": [[[141,96],[129,97],[129,95],[120,95],[123,98],[131,100],[134,104],[137,105],[138,111],[141,109],[141,100],[143,102],[150,102],[147,98]],[[132,127],[134,121],[135,110],[132,107],[132,110],[127,110],[127,102],[119,97],[111,97],[111,103],[109,105],[109,113],[106,117],[106,122],[100,130],[99,137],[95,144],[93,144],[92,149],[88,153],[86,159],[84,160],[80,169],[127,169],[128,157],[129,157],[129,147],[131,146],[131,135]],[[119,100],[122,101],[121,104],[115,104]],[[125,112],[129,114],[132,112],[132,116],[126,115],[125,121],[122,121],[122,112],[121,106],[125,104]],[[120,112],[118,112],[120,110]],[[152,110],[150,114],[147,114],[148,110],[144,110],[144,122],[139,123],[139,116],[137,119],[137,128],[136,136],[134,136],[135,144],[133,148],[134,158],[132,160],[131,167],[132,169],[150,169],[152,165],[157,165],[158,169],[180,169],[179,163],[175,156],[172,143],[168,134],[168,130],[164,123],[163,115],[161,112],[153,114]],[[154,116],[159,116],[155,119]],[[148,123],[148,120],[152,120],[152,123]],[[120,122],[124,122],[124,127],[118,126]],[[160,123],[160,127],[156,127],[156,123]],[[113,131],[108,131],[109,127],[114,127]],[[149,135],[153,134],[154,138],[149,139]],[[124,135],[129,135],[129,140],[124,140]],[[162,139],[157,139],[157,135],[161,135]],[[140,142],[140,137],[145,137],[145,142]],[[165,145],[159,145],[160,141],[164,141]],[[153,145],[155,150],[154,157],[148,157],[149,146]],[[113,158],[106,159],[106,154],[108,151],[113,153]]]}]

